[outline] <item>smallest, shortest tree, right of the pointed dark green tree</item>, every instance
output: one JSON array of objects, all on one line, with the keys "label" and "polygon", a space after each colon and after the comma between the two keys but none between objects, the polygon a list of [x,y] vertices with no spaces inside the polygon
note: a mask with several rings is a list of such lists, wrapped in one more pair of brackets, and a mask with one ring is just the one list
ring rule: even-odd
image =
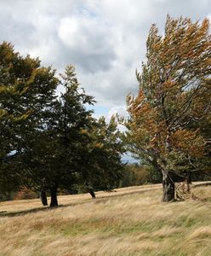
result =
[{"label": "smallest, shortest tree, right of the pointed dark green tree", "polygon": [[101,117],[83,130],[84,144],[78,154],[78,183],[94,198],[94,191],[111,191],[123,177],[122,154],[125,152],[121,131],[113,116],[107,124]]}]

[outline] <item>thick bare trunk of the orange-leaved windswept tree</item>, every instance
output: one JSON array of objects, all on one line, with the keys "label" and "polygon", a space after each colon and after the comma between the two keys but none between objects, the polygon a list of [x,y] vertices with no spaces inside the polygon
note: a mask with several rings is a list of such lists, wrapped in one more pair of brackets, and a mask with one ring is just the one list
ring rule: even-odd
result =
[{"label": "thick bare trunk of the orange-leaved windswept tree", "polygon": [[174,182],[169,176],[168,172],[163,172],[163,202],[175,200],[175,186]]}]

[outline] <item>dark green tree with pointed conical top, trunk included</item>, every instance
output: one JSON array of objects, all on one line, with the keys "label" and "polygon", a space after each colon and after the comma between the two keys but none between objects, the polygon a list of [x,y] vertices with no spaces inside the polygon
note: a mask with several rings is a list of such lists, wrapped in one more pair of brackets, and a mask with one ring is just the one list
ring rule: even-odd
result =
[{"label": "dark green tree with pointed conical top, trunk included", "polygon": [[31,134],[22,160],[26,170],[31,170],[28,172],[29,186],[50,190],[50,207],[58,206],[59,188],[70,189],[76,183],[82,130],[88,129],[92,122],[92,111],[87,106],[94,102],[93,97],[79,87],[74,67],[66,67],[60,85],[64,92],[43,114],[42,125]]}]

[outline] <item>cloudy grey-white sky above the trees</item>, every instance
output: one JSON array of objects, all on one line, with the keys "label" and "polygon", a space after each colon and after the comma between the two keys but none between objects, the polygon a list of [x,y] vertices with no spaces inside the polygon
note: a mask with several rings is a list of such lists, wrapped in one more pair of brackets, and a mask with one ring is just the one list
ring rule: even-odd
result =
[{"label": "cloudy grey-white sky above the trees", "polygon": [[126,113],[150,26],[163,34],[167,15],[211,19],[210,0],[0,0],[0,44],[8,41],[58,73],[74,65],[97,101],[95,117],[109,119]]}]

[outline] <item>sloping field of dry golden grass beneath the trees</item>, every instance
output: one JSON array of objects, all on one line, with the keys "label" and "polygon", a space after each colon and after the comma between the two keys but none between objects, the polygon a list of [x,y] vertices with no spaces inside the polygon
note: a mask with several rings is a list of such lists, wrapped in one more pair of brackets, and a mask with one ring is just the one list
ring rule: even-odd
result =
[{"label": "sloping field of dry golden grass beneath the trees", "polygon": [[161,185],[0,203],[0,255],[211,255],[211,187],[204,199],[161,203]]}]

